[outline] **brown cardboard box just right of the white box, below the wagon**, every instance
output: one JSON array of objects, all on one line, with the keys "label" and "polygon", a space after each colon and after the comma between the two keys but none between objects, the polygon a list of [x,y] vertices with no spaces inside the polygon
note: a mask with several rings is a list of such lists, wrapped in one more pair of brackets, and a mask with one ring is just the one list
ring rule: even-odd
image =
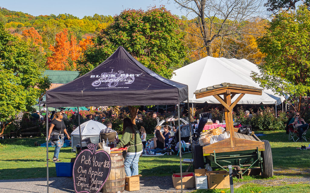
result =
[{"label": "brown cardboard box just right of the white box, below the wagon", "polygon": [[209,189],[230,188],[229,174],[227,171],[206,171]]}]

